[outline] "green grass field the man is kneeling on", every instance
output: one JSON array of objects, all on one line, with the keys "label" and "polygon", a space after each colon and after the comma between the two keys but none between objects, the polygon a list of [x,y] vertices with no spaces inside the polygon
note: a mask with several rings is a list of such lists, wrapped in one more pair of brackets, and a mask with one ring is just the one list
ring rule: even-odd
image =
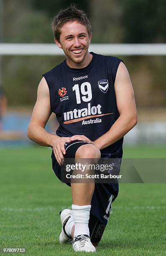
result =
[{"label": "green grass field the man is kneeling on", "polygon": [[[38,146],[0,149],[1,248],[76,254],[59,244],[59,211],[71,207],[71,192],[54,175],[50,156],[50,148]],[[166,148],[125,148],[124,157],[166,157]],[[166,255],[165,195],[166,184],[120,184],[95,255]]]}]

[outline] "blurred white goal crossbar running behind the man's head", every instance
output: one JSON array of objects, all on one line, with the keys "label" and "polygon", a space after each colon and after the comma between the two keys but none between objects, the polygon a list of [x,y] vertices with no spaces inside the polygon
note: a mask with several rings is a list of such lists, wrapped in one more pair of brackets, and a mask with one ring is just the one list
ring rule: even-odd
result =
[{"label": "blurred white goal crossbar running behind the man's head", "polygon": [[[104,55],[166,55],[166,44],[90,44],[89,51]],[[0,55],[64,55],[56,44],[0,44]]]}]

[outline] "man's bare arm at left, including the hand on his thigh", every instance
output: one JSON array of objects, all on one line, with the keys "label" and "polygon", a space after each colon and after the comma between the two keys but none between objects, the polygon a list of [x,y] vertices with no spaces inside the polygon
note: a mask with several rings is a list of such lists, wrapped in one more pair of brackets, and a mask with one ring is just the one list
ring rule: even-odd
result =
[{"label": "man's bare arm at left, including the hand on his thigh", "polygon": [[28,125],[27,136],[41,146],[53,147],[54,154],[58,163],[65,154],[64,143],[69,138],[60,138],[54,134],[48,133],[45,126],[51,115],[49,87],[46,79],[43,77],[38,85],[37,100],[33,109],[32,117]]}]

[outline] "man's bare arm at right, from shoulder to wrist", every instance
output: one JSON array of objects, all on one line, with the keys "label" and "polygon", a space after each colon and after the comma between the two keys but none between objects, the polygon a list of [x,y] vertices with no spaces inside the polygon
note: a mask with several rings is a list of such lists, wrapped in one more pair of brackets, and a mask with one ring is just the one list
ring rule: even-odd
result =
[{"label": "man's bare arm at right, from shoulder to wrist", "polygon": [[120,117],[107,133],[93,142],[100,149],[106,148],[118,141],[137,124],[134,91],[128,70],[123,62],[120,62],[117,69],[114,87]]}]

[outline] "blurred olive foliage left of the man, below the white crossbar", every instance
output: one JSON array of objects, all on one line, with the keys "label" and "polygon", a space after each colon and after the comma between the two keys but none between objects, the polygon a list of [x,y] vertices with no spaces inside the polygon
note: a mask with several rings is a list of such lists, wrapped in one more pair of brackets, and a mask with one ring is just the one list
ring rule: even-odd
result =
[{"label": "blurred olive foliage left of the man, below the white crossbar", "polygon": [[9,106],[33,106],[42,74],[64,60],[62,56],[6,56],[3,83]]}]

